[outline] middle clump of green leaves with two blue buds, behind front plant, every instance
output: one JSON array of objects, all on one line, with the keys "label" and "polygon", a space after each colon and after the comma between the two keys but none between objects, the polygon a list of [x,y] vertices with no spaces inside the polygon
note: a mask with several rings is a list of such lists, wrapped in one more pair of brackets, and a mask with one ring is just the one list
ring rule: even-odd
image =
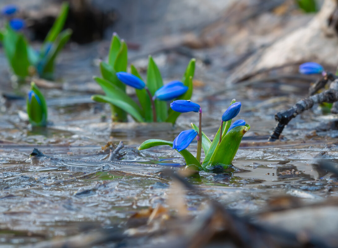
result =
[{"label": "middle clump of green leaves with two blue buds, behind front plant", "polygon": [[[180,81],[163,85],[161,73],[151,56],[149,56],[147,78],[144,81],[135,68],[127,71],[127,45],[114,33],[111,41],[108,63],[101,61],[102,77],[94,77],[105,95],[93,95],[96,102],[111,105],[112,120],[127,121],[129,114],[136,122],[170,122],[175,123],[180,113],[168,109],[166,101],[173,99],[190,99],[192,96],[192,79],[195,71],[195,59],[191,59]],[[126,85],[135,88],[138,102],[126,94]]]}]

